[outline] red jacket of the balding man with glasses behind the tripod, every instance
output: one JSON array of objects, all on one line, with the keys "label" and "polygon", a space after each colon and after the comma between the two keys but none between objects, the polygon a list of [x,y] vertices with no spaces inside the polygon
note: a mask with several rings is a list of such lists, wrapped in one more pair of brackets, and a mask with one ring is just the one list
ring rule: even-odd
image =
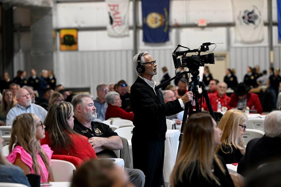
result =
[{"label": "red jacket of the balding man with glasses behind the tripod", "polygon": [[[219,101],[222,104],[222,107],[225,106],[225,107],[229,108],[228,103],[230,101],[230,97],[228,97],[226,94],[224,96],[222,96],[222,98],[220,98],[217,91],[216,91],[216,92],[213,92],[213,93],[209,93],[208,96],[209,96],[210,103],[211,103],[214,111],[217,111],[217,103]],[[204,104],[202,103],[202,107],[204,108],[204,110],[209,110],[208,107],[207,107],[206,101],[205,101]]]}]

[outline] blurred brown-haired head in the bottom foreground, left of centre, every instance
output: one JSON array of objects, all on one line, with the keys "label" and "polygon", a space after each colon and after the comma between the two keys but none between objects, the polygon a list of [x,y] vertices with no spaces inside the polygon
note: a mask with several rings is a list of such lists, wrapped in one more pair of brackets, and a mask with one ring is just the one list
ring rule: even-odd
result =
[{"label": "blurred brown-haired head in the bottom foreground, left of centre", "polygon": [[126,173],[111,160],[90,160],[74,174],[71,187],[133,187]]}]

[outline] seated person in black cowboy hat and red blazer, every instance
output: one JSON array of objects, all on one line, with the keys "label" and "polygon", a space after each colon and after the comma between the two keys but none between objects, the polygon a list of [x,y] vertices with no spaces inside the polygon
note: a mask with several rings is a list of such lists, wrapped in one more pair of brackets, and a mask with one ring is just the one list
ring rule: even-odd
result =
[{"label": "seated person in black cowboy hat and red blazer", "polygon": [[244,110],[246,107],[249,107],[250,110],[256,110],[261,114],[263,108],[261,107],[260,98],[256,93],[248,93],[250,90],[250,86],[247,86],[242,82],[239,83],[238,86],[234,88],[234,93],[230,96],[228,108]]}]

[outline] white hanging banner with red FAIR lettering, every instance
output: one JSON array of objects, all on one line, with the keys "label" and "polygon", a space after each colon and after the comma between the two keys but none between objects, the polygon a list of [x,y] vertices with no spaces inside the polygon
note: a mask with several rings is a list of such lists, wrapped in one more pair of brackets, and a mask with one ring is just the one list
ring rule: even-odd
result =
[{"label": "white hanging banner with red FAIR lettering", "polygon": [[128,36],[129,0],[105,0],[109,23],[107,33],[112,37]]}]

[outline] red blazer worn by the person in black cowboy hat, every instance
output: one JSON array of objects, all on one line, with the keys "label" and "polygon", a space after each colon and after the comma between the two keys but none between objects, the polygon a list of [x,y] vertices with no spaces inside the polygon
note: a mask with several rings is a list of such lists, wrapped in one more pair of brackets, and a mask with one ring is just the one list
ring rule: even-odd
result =
[{"label": "red blazer worn by the person in black cowboy hat", "polygon": [[[236,108],[238,101],[239,97],[235,93],[232,93],[228,103],[228,109]],[[256,93],[247,93],[247,106],[250,108],[250,110],[257,110],[257,112],[260,114],[263,112],[260,98]]]}]

